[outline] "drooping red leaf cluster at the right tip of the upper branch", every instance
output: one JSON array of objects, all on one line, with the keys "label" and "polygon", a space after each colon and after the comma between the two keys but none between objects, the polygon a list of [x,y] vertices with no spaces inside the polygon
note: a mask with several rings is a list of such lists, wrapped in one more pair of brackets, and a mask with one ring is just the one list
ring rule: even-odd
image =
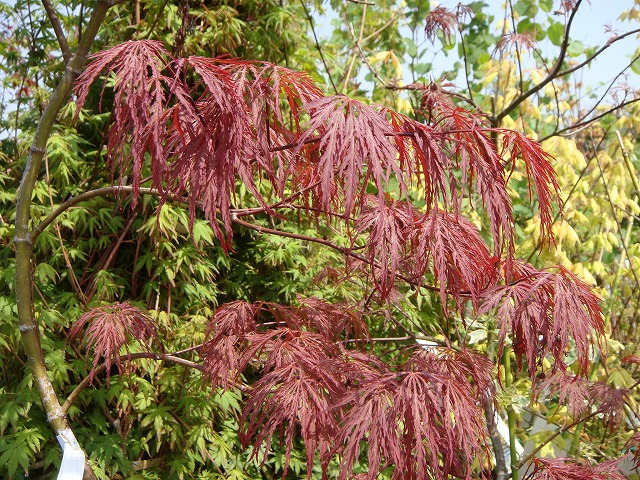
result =
[{"label": "drooping red leaf cluster at the right tip of the upper branch", "polygon": [[574,274],[563,267],[556,268],[557,273],[552,273],[516,262],[510,284],[494,286],[482,293],[484,303],[480,311],[495,308],[502,322],[500,353],[510,330],[518,362],[527,360],[532,378],[548,354],[555,361],[554,370],[566,369],[565,356],[571,348],[577,350],[577,369],[584,374],[589,365],[591,341],[604,333],[598,296]]}]

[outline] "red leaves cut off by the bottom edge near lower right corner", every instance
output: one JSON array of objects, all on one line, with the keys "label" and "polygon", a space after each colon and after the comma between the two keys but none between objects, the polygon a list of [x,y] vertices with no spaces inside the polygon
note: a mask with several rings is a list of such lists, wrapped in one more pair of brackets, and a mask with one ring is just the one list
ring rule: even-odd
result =
[{"label": "red leaves cut off by the bottom edge near lower right corner", "polygon": [[574,458],[534,458],[533,470],[523,480],[624,480],[618,462],[591,465]]}]

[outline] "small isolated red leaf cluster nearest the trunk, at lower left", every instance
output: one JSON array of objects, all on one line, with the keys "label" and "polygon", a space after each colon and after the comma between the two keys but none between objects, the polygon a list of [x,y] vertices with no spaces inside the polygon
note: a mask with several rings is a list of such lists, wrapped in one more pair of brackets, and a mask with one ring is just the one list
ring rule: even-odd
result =
[{"label": "small isolated red leaf cluster nearest the trunk, at lower left", "polygon": [[85,353],[87,356],[89,353],[93,355],[89,374],[93,381],[100,358],[104,359],[108,379],[112,362],[115,362],[118,371],[122,371],[120,350],[124,347],[129,351],[129,339],[147,344],[156,336],[156,329],[144,311],[124,302],[95,307],[82,314],[71,325],[69,340],[73,341],[80,335]]}]

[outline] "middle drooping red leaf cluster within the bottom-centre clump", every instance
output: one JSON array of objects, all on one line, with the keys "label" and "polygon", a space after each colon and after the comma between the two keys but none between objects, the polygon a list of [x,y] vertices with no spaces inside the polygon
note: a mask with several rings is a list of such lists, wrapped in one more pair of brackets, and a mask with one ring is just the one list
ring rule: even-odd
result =
[{"label": "middle drooping red leaf cluster within the bottom-centre clump", "polygon": [[286,448],[284,478],[299,428],[307,450],[307,477],[311,478],[315,452],[320,452],[326,466],[338,427],[331,406],[345,391],[340,352],[319,334],[289,328],[255,333],[248,341],[251,346],[243,361],[260,361],[263,375],[245,403],[241,417],[245,430],[240,440],[270,445],[279,431]]}]

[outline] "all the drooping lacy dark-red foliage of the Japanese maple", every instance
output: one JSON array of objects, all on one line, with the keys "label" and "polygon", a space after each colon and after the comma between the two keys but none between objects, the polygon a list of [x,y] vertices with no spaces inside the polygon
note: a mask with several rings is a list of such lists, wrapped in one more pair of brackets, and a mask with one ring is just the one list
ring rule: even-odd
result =
[{"label": "all the drooping lacy dark-red foliage of the Japanese maple", "polygon": [[[422,123],[325,96],[304,73],[231,58],[174,58],[154,41],[94,55],[76,83],[78,110],[105,71],[114,78],[108,160],[131,179],[134,201],[150,162],[153,192],[162,202],[187,204],[191,218],[202,210],[226,249],[233,248],[234,224],[323,243],[356,262],[383,303],[392,305],[398,283],[408,283],[439,292],[443,306],[462,315],[495,312],[499,350],[510,336],[532,379],[543,359],[551,359],[550,373],[565,372],[571,349],[575,373],[586,372],[590,345],[604,329],[597,296],[561,267],[539,270],[515,258],[507,178],[516,163],[524,162],[537,194],[545,242],[552,241],[559,203],[550,157],[535,141],[489,128],[435,86],[416,87],[429,119]],[[395,195],[388,193],[392,181]],[[252,206],[237,203],[239,182]],[[420,208],[411,201],[415,191],[422,192]],[[489,243],[462,216],[468,197],[486,212]],[[247,221],[291,209],[344,224],[352,246]],[[363,237],[364,248],[355,243]],[[94,369],[98,356],[119,362],[127,336],[149,342],[155,334],[144,312],[127,304],[89,312],[73,335],[86,325]],[[398,479],[487,471],[482,405],[493,401],[494,365],[445,346],[416,346],[391,365],[357,348],[367,338],[362,315],[349,305],[237,301],[211,318],[200,353],[214,386],[234,388],[244,371],[259,371],[245,390],[242,441],[268,446],[278,437],[288,461],[294,439],[302,438],[309,477],[314,461],[326,472],[337,458],[340,478],[350,478],[363,452],[367,479],[387,466]],[[537,461],[531,478],[589,470],[558,462]],[[605,478],[605,470],[606,478],[616,475],[609,466],[594,474]]]}]

